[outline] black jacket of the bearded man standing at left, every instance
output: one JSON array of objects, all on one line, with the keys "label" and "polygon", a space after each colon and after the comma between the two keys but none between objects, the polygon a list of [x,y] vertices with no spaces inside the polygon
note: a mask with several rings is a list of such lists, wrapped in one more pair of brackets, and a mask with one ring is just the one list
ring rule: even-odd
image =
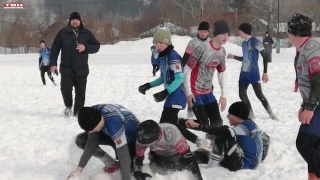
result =
[{"label": "black jacket of the bearded man standing at left", "polygon": [[[76,49],[77,41],[86,46],[84,52]],[[100,49],[100,43],[82,22],[78,31],[78,38],[70,26],[62,28],[51,46],[50,66],[57,66],[57,59],[61,50],[60,73],[62,75],[85,76],[89,74],[88,56]]]}]

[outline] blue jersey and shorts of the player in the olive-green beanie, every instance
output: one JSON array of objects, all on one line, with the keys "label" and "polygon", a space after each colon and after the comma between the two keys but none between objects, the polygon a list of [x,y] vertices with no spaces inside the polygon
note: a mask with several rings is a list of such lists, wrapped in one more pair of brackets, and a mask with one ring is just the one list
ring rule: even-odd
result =
[{"label": "blue jersey and shorts of the player in the olive-green beanie", "polygon": [[[160,60],[160,77],[166,89],[175,80],[175,73],[182,73],[181,56],[175,50],[171,50],[166,56],[158,57],[158,59]],[[185,89],[183,83],[181,83],[181,85],[167,97],[164,107],[184,109],[186,102]]]}]

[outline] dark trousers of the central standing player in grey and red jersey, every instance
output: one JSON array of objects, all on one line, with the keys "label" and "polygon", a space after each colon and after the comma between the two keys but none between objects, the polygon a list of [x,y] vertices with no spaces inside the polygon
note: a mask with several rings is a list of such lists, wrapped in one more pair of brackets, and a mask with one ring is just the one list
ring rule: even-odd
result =
[{"label": "dark trousers of the central standing player in grey and red jersey", "polygon": [[217,101],[207,105],[193,106],[192,110],[200,124],[214,127],[222,126],[222,119]]}]

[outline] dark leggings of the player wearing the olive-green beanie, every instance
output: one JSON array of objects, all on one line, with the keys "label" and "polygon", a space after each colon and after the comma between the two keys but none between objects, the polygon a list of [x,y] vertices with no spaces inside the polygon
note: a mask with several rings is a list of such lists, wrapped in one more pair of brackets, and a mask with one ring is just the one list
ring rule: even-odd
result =
[{"label": "dark leggings of the player wearing the olive-green beanie", "polygon": [[160,123],[171,123],[178,127],[181,134],[190,142],[195,143],[197,136],[190,132],[186,127],[178,124],[178,113],[179,109],[174,108],[163,108]]}]

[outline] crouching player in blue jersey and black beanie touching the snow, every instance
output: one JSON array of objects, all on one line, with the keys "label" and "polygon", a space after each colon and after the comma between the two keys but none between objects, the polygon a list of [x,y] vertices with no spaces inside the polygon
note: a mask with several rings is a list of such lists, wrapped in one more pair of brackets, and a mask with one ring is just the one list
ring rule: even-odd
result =
[{"label": "crouching player in blue jersey and black beanie touching the snow", "polygon": [[[135,115],[121,105],[98,104],[82,107],[78,114],[78,123],[85,132],[76,137],[76,144],[84,152],[78,167],[69,175],[78,176],[93,155],[100,159],[104,171],[113,173],[121,170],[121,179],[131,179],[131,160],[135,156],[135,142],[139,121]],[[103,151],[99,145],[111,146],[119,161]]]}]

